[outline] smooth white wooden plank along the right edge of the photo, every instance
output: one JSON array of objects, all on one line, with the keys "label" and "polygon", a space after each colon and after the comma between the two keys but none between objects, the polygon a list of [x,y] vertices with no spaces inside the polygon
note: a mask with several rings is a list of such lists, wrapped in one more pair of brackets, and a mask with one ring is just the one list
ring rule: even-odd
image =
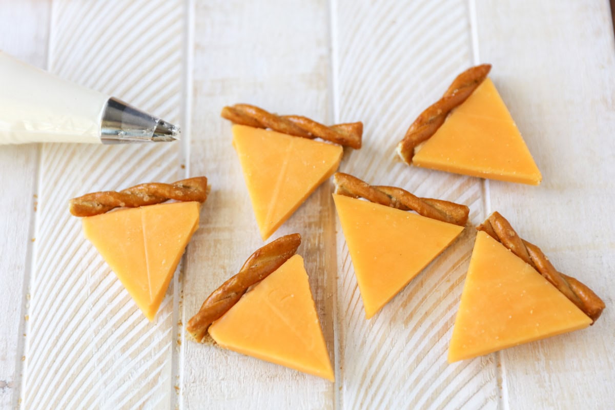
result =
[{"label": "smooth white wooden plank along the right edge of the photo", "polygon": [[589,329],[502,352],[511,409],[610,408],[615,393],[615,46],[608,2],[477,3],[480,58],[525,137],[539,187],[491,182],[491,210],[606,302]]}]

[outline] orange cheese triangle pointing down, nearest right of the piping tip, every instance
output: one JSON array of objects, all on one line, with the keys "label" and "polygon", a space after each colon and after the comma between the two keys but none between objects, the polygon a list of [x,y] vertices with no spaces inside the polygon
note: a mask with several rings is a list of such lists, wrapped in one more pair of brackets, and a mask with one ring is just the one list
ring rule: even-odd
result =
[{"label": "orange cheese triangle pointing down, nearest right of the piping tip", "polygon": [[343,153],[341,146],[245,125],[232,132],[263,240],[333,175]]}]

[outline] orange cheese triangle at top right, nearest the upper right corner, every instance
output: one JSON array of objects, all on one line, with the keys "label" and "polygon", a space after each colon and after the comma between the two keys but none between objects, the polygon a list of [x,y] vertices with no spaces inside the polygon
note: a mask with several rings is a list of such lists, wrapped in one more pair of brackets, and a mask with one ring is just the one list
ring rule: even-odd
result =
[{"label": "orange cheese triangle at top right, nearest the upper right corner", "polygon": [[451,112],[413,157],[419,167],[538,185],[542,175],[490,79]]}]

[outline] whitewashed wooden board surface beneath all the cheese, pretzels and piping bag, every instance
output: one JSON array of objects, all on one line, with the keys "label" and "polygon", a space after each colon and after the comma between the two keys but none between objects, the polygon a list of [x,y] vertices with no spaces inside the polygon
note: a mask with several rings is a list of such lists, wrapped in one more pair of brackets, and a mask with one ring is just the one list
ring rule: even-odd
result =
[{"label": "whitewashed wooden board surface beneath all the cheese, pretzels and piping bag", "polygon": [[[0,49],[183,126],[165,146],[0,148],[0,407],[613,408],[615,42],[608,1],[0,0]],[[543,182],[408,168],[393,149],[459,71],[491,77]],[[1,90],[0,90],[1,91]],[[301,232],[336,383],[183,330],[262,241],[224,104],[362,120],[341,170],[500,211],[605,299],[592,328],[446,363],[474,230],[365,321],[325,183],[276,234]],[[66,200],[207,175],[199,231],[150,324]]]}]

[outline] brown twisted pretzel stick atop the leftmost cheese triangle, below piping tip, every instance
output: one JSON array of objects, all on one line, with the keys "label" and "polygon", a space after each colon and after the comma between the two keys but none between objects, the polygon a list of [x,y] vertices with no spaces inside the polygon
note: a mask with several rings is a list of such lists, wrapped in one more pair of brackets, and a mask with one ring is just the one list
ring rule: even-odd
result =
[{"label": "brown twisted pretzel stick atop the leftmost cheese triangle, below piping tip", "polygon": [[113,208],[136,208],[169,199],[204,202],[209,192],[207,178],[196,176],[172,184],[148,183],[132,186],[122,191],[92,192],[69,201],[74,216],[92,216]]}]

